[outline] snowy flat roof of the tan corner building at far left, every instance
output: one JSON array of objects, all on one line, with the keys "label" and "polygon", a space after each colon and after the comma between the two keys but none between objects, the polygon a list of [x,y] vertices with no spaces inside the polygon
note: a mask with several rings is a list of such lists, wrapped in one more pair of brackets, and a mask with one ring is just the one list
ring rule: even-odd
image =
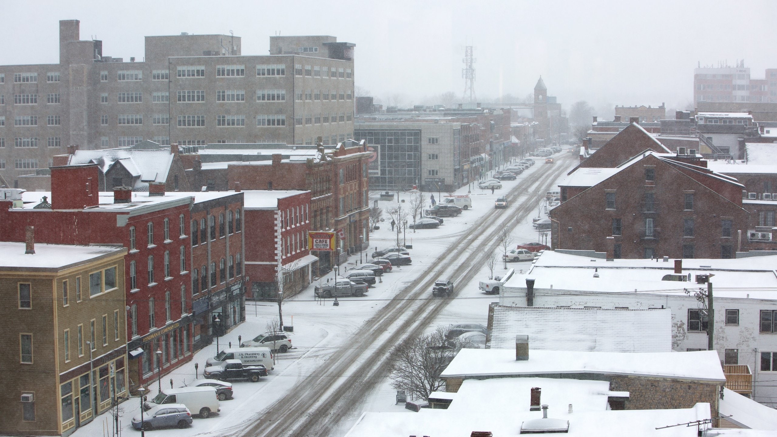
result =
[{"label": "snowy flat roof of the tan corner building at far left", "polygon": [[0,268],[60,269],[85,264],[105,255],[123,252],[124,247],[35,244],[35,253],[26,254],[25,243],[0,242]]}]

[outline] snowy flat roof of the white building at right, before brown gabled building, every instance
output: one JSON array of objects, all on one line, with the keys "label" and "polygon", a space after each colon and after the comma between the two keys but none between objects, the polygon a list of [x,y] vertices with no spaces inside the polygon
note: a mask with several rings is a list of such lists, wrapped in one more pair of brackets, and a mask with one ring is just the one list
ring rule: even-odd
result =
[{"label": "snowy flat roof of the white building at right, before brown gabled building", "polygon": [[[704,266],[704,267],[702,267]],[[535,279],[535,290],[554,288],[580,292],[661,291],[679,295],[683,288],[695,287],[696,274],[715,274],[715,295],[726,298],[777,299],[777,255],[747,257],[733,260],[682,260],[682,274],[691,274],[692,281],[662,281],[665,274],[674,274],[674,259],[663,260],[603,260],[545,250],[533,261],[526,274],[514,274],[505,284],[510,288],[526,288],[526,278]],[[598,278],[594,278],[598,268]],[[742,288],[743,284],[758,284],[758,288]]]}]

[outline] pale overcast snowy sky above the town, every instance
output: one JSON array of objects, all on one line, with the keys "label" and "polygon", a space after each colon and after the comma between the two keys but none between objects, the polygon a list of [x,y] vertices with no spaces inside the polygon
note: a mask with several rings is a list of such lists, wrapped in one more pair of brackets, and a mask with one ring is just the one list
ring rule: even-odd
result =
[{"label": "pale overcast snowy sky above the town", "polygon": [[356,85],[384,103],[464,90],[465,45],[475,47],[479,98],[531,93],[540,75],[568,110],[587,100],[685,107],[693,68],[743,59],[753,78],[777,67],[777,2],[27,2],[0,0],[0,62],[58,59],[58,20],[81,20],[81,39],[140,61],[146,35],[225,33],[242,54],[267,54],[268,37],[333,35],[356,44]]}]

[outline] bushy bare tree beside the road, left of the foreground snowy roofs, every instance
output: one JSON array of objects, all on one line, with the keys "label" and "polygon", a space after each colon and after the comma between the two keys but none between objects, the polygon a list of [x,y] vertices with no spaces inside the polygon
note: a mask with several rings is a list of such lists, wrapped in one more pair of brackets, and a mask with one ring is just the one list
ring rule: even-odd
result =
[{"label": "bushy bare tree beside the road, left of the foreground snowy roofs", "polygon": [[413,397],[428,400],[429,395],[445,386],[440,374],[456,355],[445,341],[447,327],[437,327],[429,334],[406,338],[392,350],[392,387],[405,390]]}]

